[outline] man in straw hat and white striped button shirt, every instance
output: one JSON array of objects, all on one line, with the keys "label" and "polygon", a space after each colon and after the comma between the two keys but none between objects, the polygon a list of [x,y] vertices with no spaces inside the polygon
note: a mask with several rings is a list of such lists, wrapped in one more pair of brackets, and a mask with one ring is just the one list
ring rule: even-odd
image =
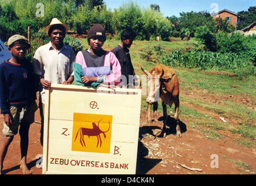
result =
[{"label": "man in straw hat and white striped button shirt", "polygon": [[45,28],[45,33],[51,38],[51,41],[38,48],[33,58],[33,67],[35,74],[40,79],[40,115],[41,115],[41,145],[44,125],[44,101],[45,88],[51,87],[51,84],[72,84],[74,80],[73,62],[76,54],[73,49],[63,43],[68,31],[66,24],[58,19],[52,19],[52,22]]}]

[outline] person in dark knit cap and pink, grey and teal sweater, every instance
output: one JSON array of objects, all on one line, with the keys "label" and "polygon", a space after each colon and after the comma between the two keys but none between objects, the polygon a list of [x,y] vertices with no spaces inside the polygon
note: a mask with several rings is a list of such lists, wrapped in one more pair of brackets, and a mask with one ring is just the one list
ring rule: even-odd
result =
[{"label": "person in dark knit cap and pink, grey and teal sweater", "polygon": [[118,85],[121,66],[114,53],[102,49],[106,35],[101,24],[92,24],[87,40],[90,48],[77,53],[73,66],[75,84],[89,87],[101,83]]}]

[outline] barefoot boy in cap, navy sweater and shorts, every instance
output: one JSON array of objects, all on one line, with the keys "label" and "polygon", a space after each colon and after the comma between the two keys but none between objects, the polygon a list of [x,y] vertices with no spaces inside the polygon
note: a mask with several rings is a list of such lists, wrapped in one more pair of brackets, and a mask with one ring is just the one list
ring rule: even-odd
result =
[{"label": "barefoot boy in cap, navy sweater and shorts", "polygon": [[30,44],[22,35],[13,35],[7,44],[12,58],[0,65],[0,109],[4,120],[4,137],[0,146],[0,173],[3,173],[3,159],[20,125],[20,169],[23,174],[32,174],[27,167],[26,157],[29,127],[34,122],[34,112],[37,110],[37,81],[33,74],[33,66],[25,59]]}]

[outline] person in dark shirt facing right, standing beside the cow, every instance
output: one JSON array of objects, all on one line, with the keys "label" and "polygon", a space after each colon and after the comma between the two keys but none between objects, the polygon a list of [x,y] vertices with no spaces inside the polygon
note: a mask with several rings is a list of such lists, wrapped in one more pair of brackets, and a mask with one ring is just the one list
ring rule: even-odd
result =
[{"label": "person in dark shirt facing right, standing beside the cow", "polygon": [[[133,40],[136,37],[136,33],[131,28],[126,28],[121,35],[121,43],[118,47],[112,49],[111,52],[115,53],[116,58],[118,58],[121,65],[122,71],[122,83],[120,87],[132,87],[130,85],[134,84],[135,73],[133,69],[133,64],[131,63],[131,57],[129,53],[129,48],[133,44]],[[129,77],[130,76],[130,77]]]}]

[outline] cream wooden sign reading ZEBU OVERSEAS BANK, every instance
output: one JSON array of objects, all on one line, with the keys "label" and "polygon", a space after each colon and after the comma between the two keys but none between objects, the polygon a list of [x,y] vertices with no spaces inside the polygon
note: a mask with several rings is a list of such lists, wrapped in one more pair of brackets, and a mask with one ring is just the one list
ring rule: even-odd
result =
[{"label": "cream wooden sign reading ZEBU OVERSEAS BANK", "polygon": [[46,92],[43,174],[135,174],[141,90],[54,84]]}]

